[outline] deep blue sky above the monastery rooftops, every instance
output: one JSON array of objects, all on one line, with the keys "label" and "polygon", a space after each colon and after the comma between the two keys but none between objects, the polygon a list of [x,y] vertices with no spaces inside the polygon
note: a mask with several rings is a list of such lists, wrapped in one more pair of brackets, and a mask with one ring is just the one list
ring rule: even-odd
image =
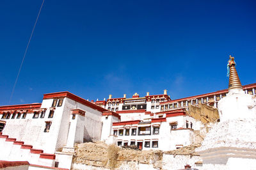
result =
[{"label": "deep blue sky above the monastery rooftops", "polygon": [[[8,105],[40,0],[0,2],[0,105]],[[70,91],[89,100],[163,94],[172,99],[256,82],[255,1],[49,1],[11,104]]]}]

